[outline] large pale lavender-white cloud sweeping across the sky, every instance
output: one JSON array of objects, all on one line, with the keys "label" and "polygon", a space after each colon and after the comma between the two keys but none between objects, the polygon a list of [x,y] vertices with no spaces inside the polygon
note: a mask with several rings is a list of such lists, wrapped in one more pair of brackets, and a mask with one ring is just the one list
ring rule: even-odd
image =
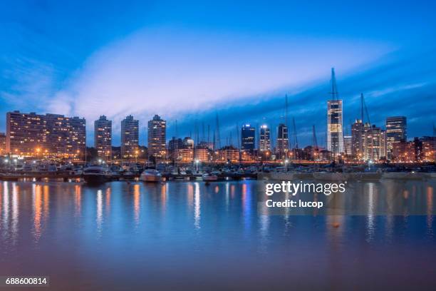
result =
[{"label": "large pale lavender-white cloud sweeping across the sky", "polygon": [[105,114],[118,131],[128,114],[142,125],[155,113],[180,119],[325,78],[332,64],[351,70],[390,49],[338,39],[144,29],[93,53],[50,108],[91,122]]}]

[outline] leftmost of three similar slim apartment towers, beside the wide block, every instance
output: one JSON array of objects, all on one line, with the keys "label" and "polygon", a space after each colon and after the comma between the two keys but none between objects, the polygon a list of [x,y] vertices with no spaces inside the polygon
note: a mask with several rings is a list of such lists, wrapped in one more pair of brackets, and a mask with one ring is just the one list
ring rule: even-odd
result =
[{"label": "leftmost of three similar slim apartment towers, beside the wide block", "polygon": [[106,116],[94,121],[94,147],[99,157],[112,155],[112,121]]}]

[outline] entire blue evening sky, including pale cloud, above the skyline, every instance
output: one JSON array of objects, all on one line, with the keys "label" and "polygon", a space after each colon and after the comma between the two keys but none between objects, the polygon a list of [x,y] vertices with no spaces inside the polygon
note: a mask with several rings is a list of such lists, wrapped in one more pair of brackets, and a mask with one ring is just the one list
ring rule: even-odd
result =
[{"label": "entire blue evening sky, including pale cloud, above the skyline", "polygon": [[[12,110],[93,121],[155,113],[168,136],[194,123],[222,143],[242,123],[283,119],[284,96],[300,146],[316,126],[325,143],[331,67],[344,126],[365,94],[370,121],[408,116],[409,136],[436,122],[436,4],[431,1],[14,1],[0,4],[0,131]],[[291,119],[289,118],[289,119]],[[345,130],[345,132],[349,129]]]}]

